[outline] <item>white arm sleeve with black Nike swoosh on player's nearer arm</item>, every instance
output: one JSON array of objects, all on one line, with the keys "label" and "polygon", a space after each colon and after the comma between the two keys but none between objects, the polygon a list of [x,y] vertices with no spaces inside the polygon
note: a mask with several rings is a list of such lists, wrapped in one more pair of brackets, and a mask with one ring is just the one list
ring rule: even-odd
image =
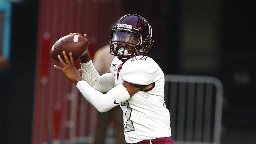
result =
[{"label": "white arm sleeve with black Nike swoosh on player's nearer arm", "polygon": [[99,112],[106,112],[130,98],[122,84],[112,88],[106,94],[96,91],[86,81],[79,81],[76,87]]}]

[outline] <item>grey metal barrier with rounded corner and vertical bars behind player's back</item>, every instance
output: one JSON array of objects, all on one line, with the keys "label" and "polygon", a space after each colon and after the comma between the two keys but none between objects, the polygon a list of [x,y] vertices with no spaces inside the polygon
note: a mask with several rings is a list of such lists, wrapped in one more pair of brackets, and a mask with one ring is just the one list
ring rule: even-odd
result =
[{"label": "grey metal barrier with rounded corner and vertical bars behind player's back", "polygon": [[165,75],[175,144],[220,144],[223,86],[210,76]]}]

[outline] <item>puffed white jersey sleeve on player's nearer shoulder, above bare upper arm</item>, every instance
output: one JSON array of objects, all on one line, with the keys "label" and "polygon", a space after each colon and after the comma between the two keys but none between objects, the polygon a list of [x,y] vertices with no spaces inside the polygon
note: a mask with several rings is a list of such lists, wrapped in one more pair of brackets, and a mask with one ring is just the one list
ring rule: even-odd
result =
[{"label": "puffed white jersey sleeve on player's nearer shoulder, above bare upper arm", "polygon": [[122,67],[122,79],[132,84],[148,85],[154,82],[156,65],[151,58],[147,60],[127,60]]}]

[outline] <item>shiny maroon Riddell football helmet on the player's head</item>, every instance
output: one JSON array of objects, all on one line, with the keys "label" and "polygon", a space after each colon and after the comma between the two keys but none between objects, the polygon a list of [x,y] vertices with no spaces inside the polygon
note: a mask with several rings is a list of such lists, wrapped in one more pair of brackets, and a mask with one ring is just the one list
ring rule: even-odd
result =
[{"label": "shiny maroon Riddell football helmet on the player's head", "polygon": [[126,61],[136,55],[145,55],[152,47],[152,28],[137,14],[121,17],[111,30],[110,53]]}]

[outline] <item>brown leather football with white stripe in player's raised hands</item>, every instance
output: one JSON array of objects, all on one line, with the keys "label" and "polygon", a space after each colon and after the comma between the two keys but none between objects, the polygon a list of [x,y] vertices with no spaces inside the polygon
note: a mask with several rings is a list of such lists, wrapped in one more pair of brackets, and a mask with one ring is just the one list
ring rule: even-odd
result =
[{"label": "brown leather football with white stripe in player's raised hands", "polygon": [[58,59],[58,55],[60,55],[61,59],[65,61],[62,52],[66,52],[69,60],[69,52],[72,52],[73,59],[77,60],[87,50],[88,44],[89,41],[84,36],[63,36],[52,45],[50,56],[53,60],[60,61]]}]

